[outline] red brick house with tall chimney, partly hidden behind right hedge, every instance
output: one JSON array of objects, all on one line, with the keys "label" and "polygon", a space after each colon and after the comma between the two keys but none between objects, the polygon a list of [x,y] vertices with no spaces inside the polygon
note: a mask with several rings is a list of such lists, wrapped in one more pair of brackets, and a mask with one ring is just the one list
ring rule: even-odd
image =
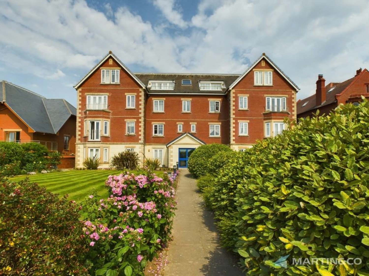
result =
[{"label": "red brick house with tall chimney, partly hidden behind right hedge", "polygon": [[353,78],[325,85],[323,75],[318,75],[314,95],[297,102],[297,117],[311,117],[319,110],[319,116],[328,115],[340,104],[357,104],[362,96],[369,98],[369,72],[361,68]]}]

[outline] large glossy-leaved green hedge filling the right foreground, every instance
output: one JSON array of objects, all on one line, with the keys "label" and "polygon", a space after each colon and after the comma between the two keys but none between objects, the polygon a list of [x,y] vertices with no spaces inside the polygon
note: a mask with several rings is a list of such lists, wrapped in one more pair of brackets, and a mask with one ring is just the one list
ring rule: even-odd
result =
[{"label": "large glossy-leaved green hedge filling the right foreground", "polygon": [[[302,120],[220,171],[211,205],[218,219],[228,217],[220,229],[247,275],[368,275],[368,114],[365,101]],[[281,257],[286,268],[275,264]],[[293,258],[362,263],[296,265]]]}]

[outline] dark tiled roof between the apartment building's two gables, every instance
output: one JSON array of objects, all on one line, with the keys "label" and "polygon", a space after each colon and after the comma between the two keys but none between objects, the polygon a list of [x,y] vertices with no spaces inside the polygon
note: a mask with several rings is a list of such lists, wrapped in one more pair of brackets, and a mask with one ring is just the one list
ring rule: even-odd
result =
[{"label": "dark tiled roof between the apartment building's two gables", "polygon": [[[151,90],[149,93],[209,93],[223,94],[240,75],[239,74],[165,74],[165,73],[134,73],[147,87],[149,81],[175,81],[174,90]],[[190,79],[191,85],[182,85],[182,79]],[[222,90],[200,90],[199,81],[224,81]]]}]

